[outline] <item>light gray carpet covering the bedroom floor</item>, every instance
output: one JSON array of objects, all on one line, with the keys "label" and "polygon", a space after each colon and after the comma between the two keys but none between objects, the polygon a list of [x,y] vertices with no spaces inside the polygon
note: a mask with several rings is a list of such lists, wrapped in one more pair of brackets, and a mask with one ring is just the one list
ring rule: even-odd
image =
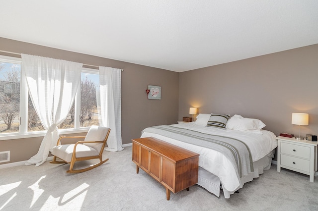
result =
[{"label": "light gray carpet covering the bedroom floor", "polygon": [[[318,210],[318,178],[282,169],[266,170],[239,193],[218,198],[194,185],[171,193],[132,162],[132,148],[104,152],[109,160],[79,174],[67,174],[69,164],[15,166],[0,169],[1,211],[313,211]],[[90,161],[91,162],[91,161]],[[83,161],[79,165],[86,165]],[[78,167],[80,167],[77,165]]]}]

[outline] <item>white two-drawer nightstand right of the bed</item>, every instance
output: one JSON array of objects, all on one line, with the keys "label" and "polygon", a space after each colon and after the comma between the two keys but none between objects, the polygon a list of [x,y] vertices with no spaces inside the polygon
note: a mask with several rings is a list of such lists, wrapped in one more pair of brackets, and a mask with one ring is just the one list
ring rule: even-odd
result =
[{"label": "white two-drawer nightstand right of the bed", "polygon": [[297,140],[278,136],[277,171],[281,168],[309,175],[314,182],[317,171],[317,141]]}]

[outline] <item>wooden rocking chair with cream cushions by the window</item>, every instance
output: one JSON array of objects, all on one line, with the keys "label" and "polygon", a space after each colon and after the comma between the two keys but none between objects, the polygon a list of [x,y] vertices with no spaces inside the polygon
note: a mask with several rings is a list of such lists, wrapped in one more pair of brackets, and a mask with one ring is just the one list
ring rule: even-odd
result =
[{"label": "wooden rocking chair with cream cushions by the window", "polygon": [[[91,126],[86,136],[61,136],[57,145],[52,149],[53,161],[50,163],[70,163],[67,173],[80,173],[100,166],[108,160],[102,160],[103,151],[110,133],[110,128]],[[85,138],[76,144],[61,144],[63,138]],[[63,161],[57,161],[59,158]],[[83,169],[73,169],[76,161],[99,158],[99,163]]]}]

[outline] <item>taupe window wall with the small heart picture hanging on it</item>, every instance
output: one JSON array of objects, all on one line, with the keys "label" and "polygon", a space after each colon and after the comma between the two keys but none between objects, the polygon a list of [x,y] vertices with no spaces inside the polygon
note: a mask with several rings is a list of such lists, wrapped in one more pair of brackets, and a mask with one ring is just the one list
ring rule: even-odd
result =
[{"label": "taupe window wall with the small heart picture hanging on it", "polygon": [[[131,143],[133,138],[139,138],[141,131],[146,127],[173,124],[178,120],[179,73],[177,72],[4,38],[0,38],[0,50],[124,69],[121,90],[123,144]],[[15,54],[1,52],[0,54],[18,57]],[[148,85],[161,86],[161,100],[147,99]],[[0,151],[11,151],[10,162],[26,160],[37,153],[42,139],[43,137],[0,140]],[[0,164],[5,163],[8,162]]]}]

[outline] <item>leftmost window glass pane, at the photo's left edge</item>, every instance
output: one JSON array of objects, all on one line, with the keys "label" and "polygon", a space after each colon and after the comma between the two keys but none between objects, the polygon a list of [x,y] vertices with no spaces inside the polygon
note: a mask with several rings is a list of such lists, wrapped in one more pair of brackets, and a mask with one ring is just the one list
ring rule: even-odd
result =
[{"label": "leftmost window glass pane, at the photo's left edge", "polygon": [[21,65],[0,62],[0,133],[19,132]]}]

